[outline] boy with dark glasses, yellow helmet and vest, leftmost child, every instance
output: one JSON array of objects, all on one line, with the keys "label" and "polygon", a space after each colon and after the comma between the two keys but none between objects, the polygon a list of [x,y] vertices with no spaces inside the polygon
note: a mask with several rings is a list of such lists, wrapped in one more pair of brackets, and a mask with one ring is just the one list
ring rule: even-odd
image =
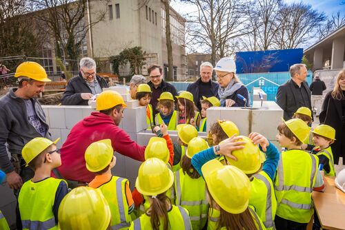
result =
[{"label": "boy with dark glasses, yellow helmet and vest, leftmost child", "polygon": [[18,205],[23,229],[36,229],[37,223],[46,229],[56,229],[58,209],[68,193],[65,180],[50,177],[52,169],[61,165],[60,150],[52,142],[37,137],[21,150],[26,166],[34,170],[34,177],[23,184],[19,191]]}]

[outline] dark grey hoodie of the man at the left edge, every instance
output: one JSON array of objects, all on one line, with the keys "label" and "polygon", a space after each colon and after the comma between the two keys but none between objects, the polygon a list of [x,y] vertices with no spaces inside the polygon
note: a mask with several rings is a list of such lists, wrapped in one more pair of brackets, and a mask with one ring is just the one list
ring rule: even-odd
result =
[{"label": "dark grey hoodie of the man at the left edge", "polygon": [[[0,98],[0,168],[6,174],[14,170],[6,151],[6,143],[11,154],[21,154],[21,149],[32,138],[41,137],[41,134],[29,123],[26,114],[26,105],[22,98],[14,92],[17,88],[11,88],[5,96]],[[34,110],[43,126],[49,129],[46,123],[46,115],[39,102],[32,98]],[[46,138],[50,134],[46,133]]]}]

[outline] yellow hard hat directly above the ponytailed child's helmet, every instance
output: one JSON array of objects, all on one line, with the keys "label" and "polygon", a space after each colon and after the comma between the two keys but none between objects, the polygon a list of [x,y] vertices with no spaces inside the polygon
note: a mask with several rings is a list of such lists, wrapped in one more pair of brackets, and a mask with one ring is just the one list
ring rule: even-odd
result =
[{"label": "yellow hard hat directly above the ponytailed child's helmet", "polygon": [[145,149],[145,160],[155,157],[163,160],[165,163],[168,163],[169,156],[170,152],[168,145],[166,145],[166,139],[156,136],[150,138]]}]

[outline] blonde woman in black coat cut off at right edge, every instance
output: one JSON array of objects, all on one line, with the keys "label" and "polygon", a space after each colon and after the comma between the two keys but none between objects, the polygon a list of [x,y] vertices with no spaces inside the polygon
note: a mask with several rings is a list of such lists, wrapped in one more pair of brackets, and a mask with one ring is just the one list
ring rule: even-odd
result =
[{"label": "blonde woman in black coat cut off at right edge", "polygon": [[335,129],[336,140],[331,145],[334,163],[342,157],[345,165],[345,69],[338,73],[333,91],[326,94],[319,121]]}]

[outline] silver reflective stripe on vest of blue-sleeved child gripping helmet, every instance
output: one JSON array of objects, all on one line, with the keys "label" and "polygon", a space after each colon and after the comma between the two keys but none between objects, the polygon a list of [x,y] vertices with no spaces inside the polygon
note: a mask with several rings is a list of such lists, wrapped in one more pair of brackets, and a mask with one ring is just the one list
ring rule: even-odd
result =
[{"label": "silver reflective stripe on vest of blue-sleeved child gripping helmet", "polygon": [[[273,222],[273,213],[272,213],[272,209],[273,209],[272,199],[275,199],[275,195],[272,196],[272,191],[271,191],[271,189],[273,188],[271,187],[270,181],[264,175],[259,173],[259,174],[255,174],[254,177],[257,178],[257,180],[261,180],[262,182],[264,182],[264,185],[266,186],[266,189],[267,189],[266,207],[264,211],[264,216],[261,216],[262,222],[264,222],[264,225],[266,228],[273,228],[275,226]],[[249,199],[249,203],[250,203],[250,199]],[[277,202],[275,202],[275,205],[277,205]],[[257,210],[259,207],[255,207],[255,208]]]}]

